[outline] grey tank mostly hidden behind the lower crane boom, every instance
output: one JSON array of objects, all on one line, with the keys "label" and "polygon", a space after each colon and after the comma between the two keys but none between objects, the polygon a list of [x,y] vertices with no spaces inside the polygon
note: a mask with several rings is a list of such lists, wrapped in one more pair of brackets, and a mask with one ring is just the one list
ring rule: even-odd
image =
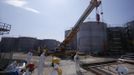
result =
[{"label": "grey tank mostly hidden behind the lower crane boom", "polygon": [[[70,30],[65,31],[65,38],[67,37]],[[67,45],[67,50],[76,50],[77,49],[77,36],[73,38],[73,40]]]}]

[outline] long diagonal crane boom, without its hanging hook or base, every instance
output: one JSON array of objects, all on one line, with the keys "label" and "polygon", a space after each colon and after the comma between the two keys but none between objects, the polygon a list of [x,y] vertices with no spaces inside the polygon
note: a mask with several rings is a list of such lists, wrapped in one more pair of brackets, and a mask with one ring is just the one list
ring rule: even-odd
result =
[{"label": "long diagonal crane boom, without its hanging hook or base", "polygon": [[88,5],[87,9],[84,11],[82,16],[79,18],[79,20],[76,22],[74,27],[71,29],[71,31],[68,33],[67,37],[63,40],[63,42],[58,46],[58,49],[64,48],[66,44],[68,44],[77,34],[80,25],[83,23],[83,21],[87,18],[87,16],[92,12],[92,10],[95,7],[98,7],[101,4],[100,0],[91,0],[90,4]]}]

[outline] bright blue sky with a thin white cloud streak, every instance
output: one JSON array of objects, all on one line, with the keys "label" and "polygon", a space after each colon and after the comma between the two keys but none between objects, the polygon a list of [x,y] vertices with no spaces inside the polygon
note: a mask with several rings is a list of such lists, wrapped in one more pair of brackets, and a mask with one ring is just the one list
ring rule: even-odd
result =
[{"label": "bright blue sky with a thin white cloud streak", "polygon": [[[0,22],[12,25],[9,37],[34,37],[63,41],[90,0],[0,0]],[[121,26],[134,20],[134,0],[102,0],[103,21]],[[86,20],[94,20],[93,11]]]}]

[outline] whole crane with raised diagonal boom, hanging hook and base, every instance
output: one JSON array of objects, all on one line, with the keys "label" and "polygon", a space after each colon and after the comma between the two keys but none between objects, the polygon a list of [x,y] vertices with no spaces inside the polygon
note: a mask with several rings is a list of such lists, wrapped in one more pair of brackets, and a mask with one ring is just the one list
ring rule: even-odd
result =
[{"label": "whole crane with raised diagonal boom, hanging hook and base", "polygon": [[[97,9],[100,4],[101,4],[101,0],[91,0],[90,1],[90,4],[88,5],[88,7],[84,11],[84,13],[81,15],[81,17],[78,19],[78,21],[76,22],[76,24],[74,25],[74,27],[71,29],[71,31],[68,33],[67,37],[56,48],[56,50],[57,50],[57,52],[55,52],[56,56],[57,56],[57,54],[58,55],[59,54],[65,55],[65,51],[66,51],[65,48],[66,48],[67,44],[69,44],[73,40],[73,38],[76,36],[77,32],[79,31],[80,25],[82,25],[82,23],[87,18],[87,16],[92,12],[92,10],[94,8]],[[99,13],[96,13],[96,20],[98,22],[100,20]],[[74,54],[74,53],[75,52],[68,53],[68,54]]]}]

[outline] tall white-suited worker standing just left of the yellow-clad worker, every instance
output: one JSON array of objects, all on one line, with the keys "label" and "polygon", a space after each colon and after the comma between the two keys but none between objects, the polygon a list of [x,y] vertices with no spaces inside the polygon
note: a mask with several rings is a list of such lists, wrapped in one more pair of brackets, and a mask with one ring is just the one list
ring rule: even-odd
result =
[{"label": "tall white-suited worker standing just left of the yellow-clad worker", "polygon": [[41,55],[40,55],[40,58],[39,58],[39,62],[38,62],[38,74],[37,75],[43,75],[43,69],[44,69],[44,66],[45,66],[45,52],[43,52]]}]

